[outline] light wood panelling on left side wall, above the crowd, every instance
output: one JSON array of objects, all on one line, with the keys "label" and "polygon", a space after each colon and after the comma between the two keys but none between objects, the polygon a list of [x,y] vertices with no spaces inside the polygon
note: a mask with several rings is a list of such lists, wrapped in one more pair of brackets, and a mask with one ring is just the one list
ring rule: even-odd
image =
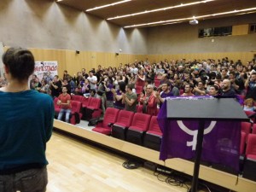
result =
[{"label": "light wood panelling on left side wall, above the crowd", "polygon": [[35,56],[36,61],[58,61],[58,74],[60,77],[63,71],[67,70],[70,75],[76,74],[85,68],[87,72],[91,68],[102,67],[118,67],[119,63],[130,63],[135,60],[145,60],[145,55],[131,55],[115,53],[103,53],[96,51],[79,51],[60,50],[60,49],[30,49]]}]

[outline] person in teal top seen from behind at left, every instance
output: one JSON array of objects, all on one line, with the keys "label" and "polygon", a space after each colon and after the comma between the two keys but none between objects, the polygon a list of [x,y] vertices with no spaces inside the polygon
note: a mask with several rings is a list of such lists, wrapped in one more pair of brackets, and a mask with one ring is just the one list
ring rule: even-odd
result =
[{"label": "person in teal top seen from behind at left", "polygon": [[0,89],[0,191],[46,191],[45,157],[54,105],[47,94],[30,90],[34,71],[31,51],[10,48],[3,54],[9,84]]}]

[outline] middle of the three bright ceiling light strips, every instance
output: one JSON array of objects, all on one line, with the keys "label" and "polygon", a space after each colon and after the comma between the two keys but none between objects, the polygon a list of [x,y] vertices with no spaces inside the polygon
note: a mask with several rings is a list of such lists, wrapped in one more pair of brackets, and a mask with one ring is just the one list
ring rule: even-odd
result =
[{"label": "middle of the three bright ceiling light strips", "polygon": [[129,14],[129,15],[120,15],[120,16],[110,17],[107,20],[117,20],[117,19],[120,19],[120,18],[131,17],[131,16],[134,16],[134,15],[149,14],[149,13],[158,12],[158,11],[165,11],[167,9],[176,9],[176,8],[191,6],[191,5],[195,5],[195,4],[199,4],[199,3],[207,3],[207,2],[213,2],[213,1],[215,1],[215,0],[197,1],[197,2],[193,2],[193,3],[181,3],[181,4],[178,4],[178,5],[174,5],[174,6],[170,6],[170,7],[166,7],[166,8],[152,9],[152,10],[137,12],[137,13]]}]

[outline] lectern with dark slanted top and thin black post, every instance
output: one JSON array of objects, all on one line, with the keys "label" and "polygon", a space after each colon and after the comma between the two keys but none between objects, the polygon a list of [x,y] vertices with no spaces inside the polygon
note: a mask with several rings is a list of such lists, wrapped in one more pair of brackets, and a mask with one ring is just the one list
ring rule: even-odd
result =
[{"label": "lectern with dark slanted top and thin black post", "polygon": [[205,121],[248,121],[246,113],[234,98],[186,97],[166,100],[166,118],[199,120],[195,148],[195,166],[191,192],[197,191]]}]

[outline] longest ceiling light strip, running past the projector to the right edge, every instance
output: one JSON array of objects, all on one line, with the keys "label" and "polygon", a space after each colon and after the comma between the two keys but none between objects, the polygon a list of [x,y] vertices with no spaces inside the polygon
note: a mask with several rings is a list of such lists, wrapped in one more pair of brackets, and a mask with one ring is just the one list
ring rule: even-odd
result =
[{"label": "longest ceiling light strip, running past the projector to the right edge", "polygon": [[248,9],[241,9],[241,10],[236,9],[233,11],[227,11],[227,12],[217,13],[217,14],[212,14],[212,15],[200,15],[200,16],[193,16],[193,17],[189,17],[189,18],[181,18],[181,19],[176,19],[176,20],[160,20],[160,21],[155,21],[155,22],[150,22],[150,23],[143,23],[143,24],[137,24],[137,25],[132,25],[132,26],[124,26],[124,27],[131,28],[131,27],[137,27],[137,26],[153,26],[153,25],[157,25],[160,23],[196,20],[196,19],[202,19],[202,18],[206,18],[206,17],[212,17],[215,15],[229,15],[229,14],[241,13],[241,12],[247,12],[247,11],[253,11],[253,10],[256,10],[256,8],[248,8]]}]

